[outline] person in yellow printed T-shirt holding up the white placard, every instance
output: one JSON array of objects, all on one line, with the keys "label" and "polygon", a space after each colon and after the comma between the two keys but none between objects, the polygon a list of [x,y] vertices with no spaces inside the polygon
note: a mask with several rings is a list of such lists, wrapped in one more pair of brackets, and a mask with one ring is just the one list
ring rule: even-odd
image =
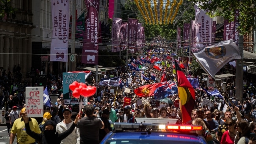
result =
[{"label": "person in yellow printed T-shirt holding up the white placard", "polygon": [[[27,114],[25,115],[24,112],[26,113],[25,107],[20,110],[21,118],[18,118],[13,123],[9,140],[10,144],[13,144],[16,136],[17,144],[34,144],[36,142],[36,138],[28,135],[28,129],[29,131],[33,131],[33,133],[38,135],[41,133],[37,120],[35,120],[35,118],[26,117]],[[26,128],[26,131],[24,131],[26,124],[28,124],[30,128]]]}]

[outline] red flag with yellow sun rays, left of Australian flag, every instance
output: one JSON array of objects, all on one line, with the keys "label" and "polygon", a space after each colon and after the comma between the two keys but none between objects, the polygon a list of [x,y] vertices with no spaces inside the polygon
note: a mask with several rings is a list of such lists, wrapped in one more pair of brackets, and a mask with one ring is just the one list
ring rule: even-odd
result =
[{"label": "red flag with yellow sun rays, left of Australian flag", "polygon": [[139,96],[152,96],[154,95],[154,91],[156,90],[156,87],[154,85],[143,85],[142,87],[139,87],[134,90],[134,93]]}]

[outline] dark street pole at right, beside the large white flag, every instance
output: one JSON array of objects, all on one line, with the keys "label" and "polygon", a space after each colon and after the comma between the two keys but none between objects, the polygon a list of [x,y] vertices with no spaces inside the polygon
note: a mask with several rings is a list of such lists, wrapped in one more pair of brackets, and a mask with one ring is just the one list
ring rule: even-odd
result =
[{"label": "dark street pole at right, beside the large white flag", "polygon": [[239,52],[241,59],[236,60],[236,99],[243,100],[243,35],[239,35]]}]

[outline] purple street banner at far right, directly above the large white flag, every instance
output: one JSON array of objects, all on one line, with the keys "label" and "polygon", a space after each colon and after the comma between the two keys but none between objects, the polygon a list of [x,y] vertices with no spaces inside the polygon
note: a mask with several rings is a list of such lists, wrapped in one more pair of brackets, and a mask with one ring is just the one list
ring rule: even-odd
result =
[{"label": "purple street banner at far right, directly above the large white flag", "polygon": [[223,31],[223,40],[230,40],[232,39],[233,41],[236,42],[237,46],[238,46],[238,37],[239,37],[239,33],[238,33],[238,26],[239,26],[239,22],[238,22],[238,17],[239,17],[239,10],[235,11],[235,20],[232,22],[228,22],[228,20],[224,20],[224,31]]}]

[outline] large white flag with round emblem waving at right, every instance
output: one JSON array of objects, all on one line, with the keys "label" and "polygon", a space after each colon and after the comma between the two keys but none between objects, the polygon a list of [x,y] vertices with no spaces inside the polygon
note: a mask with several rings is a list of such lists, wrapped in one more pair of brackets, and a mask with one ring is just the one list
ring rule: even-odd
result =
[{"label": "large white flag with round emblem waving at right", "polygon": [[193,53],[199,65],[212,78],[228,62],[241,59],[239,49],[232,40],[221,41],[217,44],[204,47]]}]

